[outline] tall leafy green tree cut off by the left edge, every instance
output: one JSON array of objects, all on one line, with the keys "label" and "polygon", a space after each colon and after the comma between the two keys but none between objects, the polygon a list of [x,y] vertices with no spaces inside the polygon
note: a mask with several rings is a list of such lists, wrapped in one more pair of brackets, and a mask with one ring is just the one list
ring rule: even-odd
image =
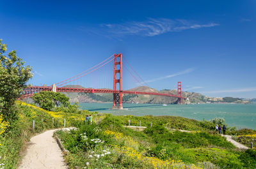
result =
[{"label": "tall leafy green tree cut off by the left edge", "polygon": [[7,45],[0,40],[0,112],[4,119],[12,120],[16,116],[15,99],[19,98],[32,73],[31,67],[24,66],[25,62],[17,57],[15,50],[4,55],[6,51]]}]

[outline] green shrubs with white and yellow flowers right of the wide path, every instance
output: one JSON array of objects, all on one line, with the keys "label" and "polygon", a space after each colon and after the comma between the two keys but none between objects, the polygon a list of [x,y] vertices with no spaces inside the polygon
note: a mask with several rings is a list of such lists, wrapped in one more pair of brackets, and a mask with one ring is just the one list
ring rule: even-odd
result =
[{"label": "green shrubs with white and yellow flowers right of the wide path", "polygon": [[[65,156],[69,167],[156,168],[152,163],[143,162],[143,158],[132,158],[137,153],[143,154],[144,158],[149,158],[148,161],[154,159],[154,163],[157,163],[156,161],[164,163],[163,161],[172,159],[177,165],[179,163],[177,161],[182,160],[183,166],[177,168],[182,168],[184,165],[194,165],[198,168],[255,168],[255,151],[236,151],[234,145],[214,133],[172,132],[160,124],[140,132],[124,128],[123,122],[124,116],[106,115],[99,124],[79,124],[77,131],[69,133],[59,131],[61,140],[70,151],[70,154]],[[104,131],[120,133],[118,134],[120,137],[117,139],[115,135],[106,135]],[[86,140],[81,137],[83,133],[87,137]],[[95,138],[104,140],[105,143],[95,144],[92,141]],[[111,155],[95,161],[93,153],[99,154],[105,149],[111,151]],[[132,154],[127,154],[120,149],[132,149]],[[93,158],[90,158],[90,155]],[[90,165],[85,165],[86,163]]]}]

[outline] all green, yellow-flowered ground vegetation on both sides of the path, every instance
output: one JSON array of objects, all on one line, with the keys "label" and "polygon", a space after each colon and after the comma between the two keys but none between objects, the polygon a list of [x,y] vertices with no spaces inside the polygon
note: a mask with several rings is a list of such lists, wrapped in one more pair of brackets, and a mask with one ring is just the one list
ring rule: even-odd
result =
[{"label": "all green, yellow-flowered ground vegetation on both sides of the path", "polygon": [[[237,151],[224,137],[212,132],[214,124],[208,121],[94,113],[90,125],[83,121],[86,114],[92,112],[51,112],[20,101],[15,111],[19,112],[17,121],[5,124],[0,133],[0,163],[4,163],[4,168],[17,168],[20,152],[29,138],[46,129],[63,127],[63,119],[67,127],[77,128],[57,133],[65,149],[70,151],[65,156],[69,168],[256,168],[255,150]],[[124,128],[128,120],[132,126],[139,126],[141,121],[141,126],[147,129]],[[4,126],[1,118],[0,124]],[[255,135],[255,131],[248,129],[230,132],[237,136],[250,135],[250,138]]]}]

